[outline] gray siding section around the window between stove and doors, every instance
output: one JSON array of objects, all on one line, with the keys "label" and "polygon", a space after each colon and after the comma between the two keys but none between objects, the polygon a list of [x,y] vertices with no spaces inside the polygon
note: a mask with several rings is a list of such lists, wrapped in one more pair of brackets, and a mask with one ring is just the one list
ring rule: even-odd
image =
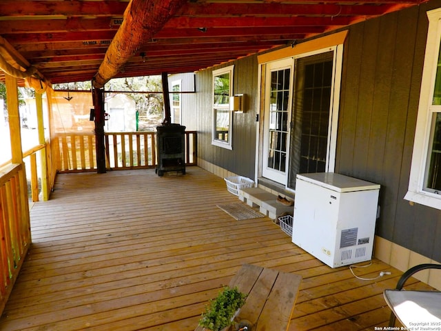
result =
[{"label": "gray siding section around the window between stove and doors", "polygon": [[[198,90],[198,155],[236,174],[254,179],[254,160],[256,148],[256,113],[258,91],[257,57],[246,57],[234,64],[234,94],[245,94],[245,111],[234,113],[233,118],[233,150],[227,150],[212,145],[212,70],[203,70],[196,74],[196,89]],[[222,68],[218,66],[214,69]]]}]

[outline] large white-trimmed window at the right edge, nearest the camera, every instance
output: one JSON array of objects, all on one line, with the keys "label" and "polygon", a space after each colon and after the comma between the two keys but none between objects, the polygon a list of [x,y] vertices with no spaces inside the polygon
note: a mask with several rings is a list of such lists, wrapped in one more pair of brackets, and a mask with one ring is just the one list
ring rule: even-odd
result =
[{"label": "large white-trimmed window at the right edge, nearest the camera", "polygon": [[427,12],[427,17],[420,103],[404,199],[441,209],[441,8]]}]

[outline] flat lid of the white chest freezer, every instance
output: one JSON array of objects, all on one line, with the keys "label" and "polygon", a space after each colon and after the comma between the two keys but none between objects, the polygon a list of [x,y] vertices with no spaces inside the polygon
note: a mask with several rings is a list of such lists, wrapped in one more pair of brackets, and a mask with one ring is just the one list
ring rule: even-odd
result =
[{"label": "flat lid of the white chest freezer", "polygon": [[380,184],[363,181],[362,179],[345,176],[344,174],[336,174],[335,172],[297,174],[296,178],[336,192],[378,190],[380,188]]}]

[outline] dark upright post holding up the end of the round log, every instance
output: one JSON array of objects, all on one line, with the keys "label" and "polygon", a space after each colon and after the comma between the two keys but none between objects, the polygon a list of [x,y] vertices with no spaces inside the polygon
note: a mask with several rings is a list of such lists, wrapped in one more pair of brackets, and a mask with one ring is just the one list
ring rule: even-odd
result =
[{"label": "dark upright post holding up the end of the round log", "polygon": [[104,101],[101,88],[92,89],[95,110],[95,150],[96,172],[105,173],[105,144],[104,144]]}]

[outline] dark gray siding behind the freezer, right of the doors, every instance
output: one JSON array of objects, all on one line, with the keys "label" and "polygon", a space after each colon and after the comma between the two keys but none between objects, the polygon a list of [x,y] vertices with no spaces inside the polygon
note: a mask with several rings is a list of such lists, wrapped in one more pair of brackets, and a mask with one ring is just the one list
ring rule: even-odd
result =
[{"label": "dark gray siding behind the freezer, right of the doors", "polygon": [[380,183],[377,234],[441,261],[441,212],[403,199],[418,114],[427,10],[441,1],[349,28],[336,172]]}]

